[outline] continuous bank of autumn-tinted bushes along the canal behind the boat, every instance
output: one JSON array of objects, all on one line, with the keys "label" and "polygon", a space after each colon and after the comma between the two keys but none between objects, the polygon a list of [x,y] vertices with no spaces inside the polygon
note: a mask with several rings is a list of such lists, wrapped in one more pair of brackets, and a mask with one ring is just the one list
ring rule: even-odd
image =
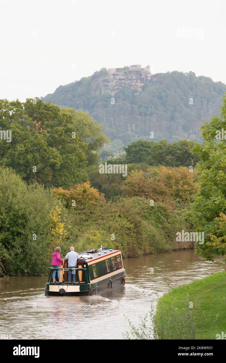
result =
[{"label": "continuous bank of autumn-tinted bushes along the canal behind the boat", "polygon": [[71,246],[81,252],[104,245],[123,258],[193,247],[176,241],[191,223],[169,197],[153,205],[137,195],[108,201],[89,182],[49,189],[7,167],[0,167],[0,191],[0,276],[48,274],[56,246],[63,257]]}]

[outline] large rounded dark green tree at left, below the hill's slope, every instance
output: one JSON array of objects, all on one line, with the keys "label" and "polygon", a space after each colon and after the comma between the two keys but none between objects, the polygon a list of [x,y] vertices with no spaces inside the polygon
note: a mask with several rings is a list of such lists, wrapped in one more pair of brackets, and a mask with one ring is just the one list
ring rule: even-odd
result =
[{"label": "large rounded dark green tree at left, below the hill's slope", "polygon": [[0,125],[12,141],[0,140],[0,163],[25,181],[67,187],[86,178],[84,167],[96,158],[106,137],[88,114],[33,102],[0,100]]}]

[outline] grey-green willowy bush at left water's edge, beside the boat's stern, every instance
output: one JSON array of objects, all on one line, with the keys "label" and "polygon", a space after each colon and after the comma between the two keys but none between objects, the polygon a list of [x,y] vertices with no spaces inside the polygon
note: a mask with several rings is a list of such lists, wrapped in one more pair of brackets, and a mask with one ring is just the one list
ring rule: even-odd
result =
[{"label": "grey-green willowy bush at left water's edge, beside the boat's stern", "polygon": [[2,166],[0,197],[0,275],[48,273],[56,245],[65,253],[73,239],[66,209],[50,190]]}]

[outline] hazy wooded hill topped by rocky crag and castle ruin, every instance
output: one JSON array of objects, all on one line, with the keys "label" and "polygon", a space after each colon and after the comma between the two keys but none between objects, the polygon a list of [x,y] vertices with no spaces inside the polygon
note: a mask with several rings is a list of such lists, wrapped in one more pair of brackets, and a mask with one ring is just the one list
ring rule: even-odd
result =
[{"label": "hazy wooded hill topped by rocky crag and castle ruin", "polygon": [[[169,142],[198,137],[201,119],[218,113],[226,85],[193,72],[152,75],[150,68],[102,68],[92,76],[59,86],[42,97],[55,105],[88,111],[117,140],[120,149],[142,138]],[[121,141],[120,141],[121,140]],[[152,139],[153,140],[153,139]]]}]

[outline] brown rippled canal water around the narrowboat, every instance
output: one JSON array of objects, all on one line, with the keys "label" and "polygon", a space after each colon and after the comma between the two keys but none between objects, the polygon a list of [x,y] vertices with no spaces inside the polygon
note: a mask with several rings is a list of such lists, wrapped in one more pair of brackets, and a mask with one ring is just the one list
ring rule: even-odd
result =
[{"label": "brown rippled canal water around the narrowboat", "polygon": [[0,334],[12,339],[125,339],[171,287],[222,271],[193,250],[124,260],[126,284],[102,295],[46,297],[47,276],[0,280]]}]

